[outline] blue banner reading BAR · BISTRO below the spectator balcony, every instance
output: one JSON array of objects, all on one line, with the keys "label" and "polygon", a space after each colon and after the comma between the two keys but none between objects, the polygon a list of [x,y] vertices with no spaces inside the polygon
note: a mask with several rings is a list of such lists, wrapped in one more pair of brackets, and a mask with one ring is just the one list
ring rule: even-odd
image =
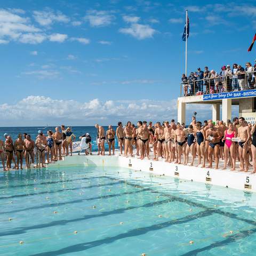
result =
[{"label": "blue banner reading BAR \u00b7 BISTRO below the spectator balcony", "polygon": [[237,91],[237,92],[220,92],[212,94],[204,94],[203,100],[222,100],[232,98],[256,97],[255,90]]}]

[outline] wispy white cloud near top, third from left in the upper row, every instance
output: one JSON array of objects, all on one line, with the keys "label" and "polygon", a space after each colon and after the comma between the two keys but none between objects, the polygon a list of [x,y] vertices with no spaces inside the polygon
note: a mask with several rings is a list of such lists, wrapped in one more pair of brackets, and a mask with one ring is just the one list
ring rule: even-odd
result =
[{"label": "wispy white cloud near top, third from left in the upper row", "polygon": [[115,17],[107,11],[91,10],[87,11],[84,19],[89,21],[92,27],[105,27],[110,25]]}]

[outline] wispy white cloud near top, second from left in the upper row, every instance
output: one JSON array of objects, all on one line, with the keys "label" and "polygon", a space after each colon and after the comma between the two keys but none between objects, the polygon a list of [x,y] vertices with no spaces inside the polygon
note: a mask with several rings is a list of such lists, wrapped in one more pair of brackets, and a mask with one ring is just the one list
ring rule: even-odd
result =
[{"label": "wispy white cloud near top, second from left in the upper row", "polygon": [[53,11],[34,11],[34,18],[41,26],[50,26],[54,22],[69,22],[69,18],[61,12]]}]

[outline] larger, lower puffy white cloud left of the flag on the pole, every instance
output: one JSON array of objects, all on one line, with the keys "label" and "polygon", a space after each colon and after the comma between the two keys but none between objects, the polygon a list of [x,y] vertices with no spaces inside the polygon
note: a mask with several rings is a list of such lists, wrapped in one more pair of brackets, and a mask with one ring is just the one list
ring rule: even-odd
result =
[{"label": "larger, lower puffy white cloud left of the flag on the pole", "polygon": [[149,25],[133,23],[130,28],[121,28],[119,29],[119,32],[142,40],[145,38],[153,37],[153,35],[156,33],[156,30],[151,28]]}]

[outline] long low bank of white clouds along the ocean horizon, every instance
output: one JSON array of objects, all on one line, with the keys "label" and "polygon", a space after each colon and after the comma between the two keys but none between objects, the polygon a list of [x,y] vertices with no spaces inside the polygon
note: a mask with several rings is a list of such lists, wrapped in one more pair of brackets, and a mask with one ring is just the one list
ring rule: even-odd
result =
[{"label": "long low bank of white clouds along the ocean horizon", "polygon": [[[46,70],[45,70],[46,71]],[[54,108],[52,107],[54,106]],[[188,105],[187,117],[197,107],[198,119],[207,119],[211,115],[210,105]],[[27,113],[29,112],[29,115]],[[87,102],[75,100],[57,100],[50,97],[31,95],[15,104],[0,105],[0,119],[6,125],[19,125],[26,116],[27,124],[41,122],[42,124],[66,122],[72,125],[92,125],[101,122],[102,125],[116,124],[118,121],[137,122],[177,121],[177,100],[106,100],[92,99]],[[14,124],[15,123],[15,124]]]}]

